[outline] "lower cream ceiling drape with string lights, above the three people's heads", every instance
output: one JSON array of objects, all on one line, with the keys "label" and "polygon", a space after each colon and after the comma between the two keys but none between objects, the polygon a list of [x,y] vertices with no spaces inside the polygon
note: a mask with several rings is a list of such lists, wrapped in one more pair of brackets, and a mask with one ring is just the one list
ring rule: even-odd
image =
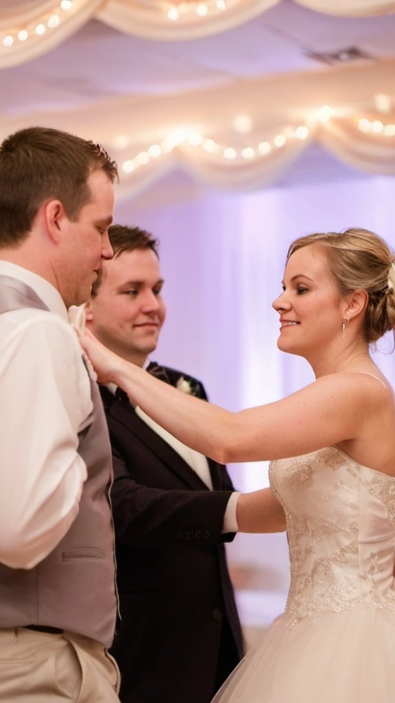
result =
[{"label": "lower cream ceiling drape with string lights, above the three people's heads", "polygon": [[[275,183],[311,142],[347,165],[395,176],[395,110],[377,112],[377,91],[394,94],[395,60],[251,79],[235,86],[167,96],[106,99],[73,112],[36,112],[29,124],[95,138],[117,160],[119,197],[131,197],[176,166],[224,190]],[[330,110],[325,108],[330,105]],[[233,117],[248,105],[249,134]],[[180,124],[183,128],[180,129]],[[6,117],[0,139],[26,126]]]}]

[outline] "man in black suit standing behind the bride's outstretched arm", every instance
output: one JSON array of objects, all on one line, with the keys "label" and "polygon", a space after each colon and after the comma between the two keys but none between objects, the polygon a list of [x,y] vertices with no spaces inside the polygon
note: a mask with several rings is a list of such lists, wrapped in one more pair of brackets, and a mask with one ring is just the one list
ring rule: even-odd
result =
[{"label": "man in black suit standing behind the bride's outstretched arm", "polygon": [[[200,381],[147,366],[164,322],[157,242],[139,228],[112,226],[86,325],[124,359],[207,399]],[[188,449],[101,387],[115,482],[121,619],[112,647],[122,703],[209,703],[242,657],[242,634],[224,542],[237,529],[226,467]]]}]

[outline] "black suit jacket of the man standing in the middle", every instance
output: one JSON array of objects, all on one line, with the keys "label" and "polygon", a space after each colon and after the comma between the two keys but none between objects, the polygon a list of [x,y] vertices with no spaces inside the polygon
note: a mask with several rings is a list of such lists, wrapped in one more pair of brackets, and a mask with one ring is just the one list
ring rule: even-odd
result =
[{"label": "black suit jacket of the man standing in the middle", "polygon": [[[174,383],[180,376],[167,373]],[[205,396],[199,382],[183,378]],[[126,396],[104,387],[101,394],[115,474],[121,621],[111,651],[122,703],[209,703],[219,659],[227,676],[242,656],[224,548],[234,535],[221,534],[231,479],[209,460],[210,491]]]}]

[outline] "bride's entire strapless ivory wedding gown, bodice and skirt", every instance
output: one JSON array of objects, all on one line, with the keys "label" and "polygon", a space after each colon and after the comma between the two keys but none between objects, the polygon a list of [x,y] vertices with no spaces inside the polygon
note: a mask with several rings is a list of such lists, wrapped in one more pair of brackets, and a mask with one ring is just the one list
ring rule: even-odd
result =
[{"label": "bride's entire strapless ivory wedding gown, bodice and skirt", "polygon": [[213,703],[395,703],[395,478],[335,447],[276,460],[285,612]]}]

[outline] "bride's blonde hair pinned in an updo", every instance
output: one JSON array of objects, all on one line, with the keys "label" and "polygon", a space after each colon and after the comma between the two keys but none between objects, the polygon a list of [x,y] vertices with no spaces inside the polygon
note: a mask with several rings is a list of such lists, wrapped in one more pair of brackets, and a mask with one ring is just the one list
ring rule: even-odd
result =
[{"label": "bride's blonde hair pinned in an updo", "polygon": [[342,295],[365,290],[364,333],[376,342],[395,327],[395,257],[387,244],[368,229],[350,228],[342,232],[315,233],[300,237],[290,245],[291,254],[311,244],[325,247],[330,271]]}]

